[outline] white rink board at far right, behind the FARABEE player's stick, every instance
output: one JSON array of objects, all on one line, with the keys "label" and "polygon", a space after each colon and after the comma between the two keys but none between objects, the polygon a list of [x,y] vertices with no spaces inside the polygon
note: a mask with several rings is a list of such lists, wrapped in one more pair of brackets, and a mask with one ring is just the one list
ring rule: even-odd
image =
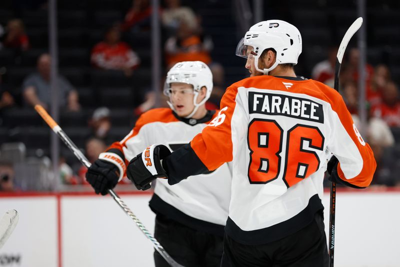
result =
[{"label": "white rink board at far right, behind the FARABEE player's stick", "polygon": [[[324,194],[325,232],[329,193]],[[398,267],[400,192],[336,194],[335,267]],[[327,240],[328,235],[326,235]]]}]

